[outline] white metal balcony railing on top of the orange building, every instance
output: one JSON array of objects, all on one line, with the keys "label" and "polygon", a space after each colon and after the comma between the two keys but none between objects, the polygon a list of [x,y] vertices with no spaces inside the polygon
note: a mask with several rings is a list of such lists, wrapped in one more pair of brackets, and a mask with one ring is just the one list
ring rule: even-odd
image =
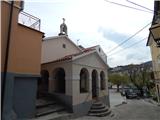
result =
[{"label": "white metal balcony railing on top of the orange building", "polygon": [[28,26],[30,28],[36,29],[40,31],[40,25],[41,25],[41,20],[35,16],[32,16],[26,12],[20,12],[19,13],[19,19],[18,22]]}]

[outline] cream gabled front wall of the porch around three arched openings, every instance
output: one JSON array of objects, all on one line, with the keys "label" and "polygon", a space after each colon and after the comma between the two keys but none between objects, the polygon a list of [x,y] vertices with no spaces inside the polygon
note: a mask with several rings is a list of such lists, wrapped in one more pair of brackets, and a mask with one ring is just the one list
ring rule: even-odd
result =
[{"label": "cream gabled front wall of the porch around three arched openings", "polygon": [[[89,92],[80,93],[80,71],[86,68],[89,72]],[[72,64],[72,90],[73,90],[73,105],[92,100],[92,71],[98,73],[98,88],[100,88],[100,72],[105,73],[106,89],[99,89],[99,97],[108,95],[108,73],[106,65],[100,60],[96,53],[77,59]]]}]

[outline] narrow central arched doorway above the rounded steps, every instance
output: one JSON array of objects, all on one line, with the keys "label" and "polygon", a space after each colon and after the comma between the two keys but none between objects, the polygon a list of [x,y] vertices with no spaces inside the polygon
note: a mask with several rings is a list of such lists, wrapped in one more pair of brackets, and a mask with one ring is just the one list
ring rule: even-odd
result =
[{"label": "narrow central arched doorway above the rounded steps", "polygon": [[98,97],[98,72],[92,71],[92,98]]}]

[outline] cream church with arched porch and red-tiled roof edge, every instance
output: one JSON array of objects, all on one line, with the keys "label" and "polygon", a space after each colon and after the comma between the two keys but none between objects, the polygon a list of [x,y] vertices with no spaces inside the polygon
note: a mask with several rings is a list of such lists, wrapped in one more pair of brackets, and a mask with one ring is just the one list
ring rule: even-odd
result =
[{"label": "cream church with arched porch and red-tiled roof edge", "polygon": [[78,47],[64,33],[44,38],[41,73],[47,73],[42,75],[48,81],[46,92],[76,114],[88,113],[94,99],[109,106],[106,58],[100,46]]}]

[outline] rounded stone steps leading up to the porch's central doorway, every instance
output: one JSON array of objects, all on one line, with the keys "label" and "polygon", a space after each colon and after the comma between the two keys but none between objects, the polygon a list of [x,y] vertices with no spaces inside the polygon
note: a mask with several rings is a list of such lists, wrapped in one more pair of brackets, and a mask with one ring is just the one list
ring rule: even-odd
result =
[{"label": "rounded stone steps leading up to the porch's central doorway", "polygon": [[111,110],[99,100],[93,102],[88,113],[89,116],[104,117],[111,114]]}]

